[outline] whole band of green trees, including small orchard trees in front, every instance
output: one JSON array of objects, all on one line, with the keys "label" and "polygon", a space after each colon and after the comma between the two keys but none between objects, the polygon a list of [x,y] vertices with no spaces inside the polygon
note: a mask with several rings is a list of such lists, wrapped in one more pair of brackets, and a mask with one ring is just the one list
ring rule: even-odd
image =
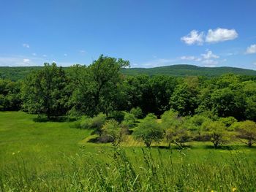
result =
[{"label": "whole band of green trees, including small orchard trees in front", "polygon": [[48,119],[83,117],[82,128],[111,136],[113,145],[121,141],[122,128],[129,132],[136,119],[142,119],[134,136],[148,147],[163,137],[182,146],[191,133],[193,139],[210,139],[217,147],[224,142],[225,132],[241,128],[241,138],[249,139],[246,144],[252,146],[254,76],[127,76],[121,73],[127,67],[129,61],[104,55],[89,66],[66,70],[45,64],[24,80],[0,80],[0,110],[23,110]]}]

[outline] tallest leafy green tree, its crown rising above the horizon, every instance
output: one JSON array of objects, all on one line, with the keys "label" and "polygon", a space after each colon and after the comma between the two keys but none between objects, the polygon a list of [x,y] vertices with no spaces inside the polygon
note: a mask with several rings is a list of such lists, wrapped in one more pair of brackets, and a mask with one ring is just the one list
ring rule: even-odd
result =
[{"label": "tallest leafy green tree, its crown rising above the horizon", "polygon": [[115,110],[119,86],[120,70],[129,66],[129,61],[100,55],[89,66],[73,66],[71,88],[72,97],[69,104],[73,110],[94,116],[99,112],[106,115]]}]

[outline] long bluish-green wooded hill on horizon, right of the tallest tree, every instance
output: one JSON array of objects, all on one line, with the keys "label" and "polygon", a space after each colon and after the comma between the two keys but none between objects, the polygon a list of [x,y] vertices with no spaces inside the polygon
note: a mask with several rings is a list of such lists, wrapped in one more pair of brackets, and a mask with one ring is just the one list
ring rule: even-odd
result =
[{"label": "long bluish-green wooded hill on horizon, right of the tallest tree", "polygon": [[171,76],[206,76],[206,77],[217,77],[222,74],[233,73],[241,75],[256,75],[255,70],[241,69],[236,67],[201,67],[193,65],[173,65],[173,66],[159,66],[154,68],[130,68],[123,69],[122,72],[127,75],[136,74],[165,74]]}]

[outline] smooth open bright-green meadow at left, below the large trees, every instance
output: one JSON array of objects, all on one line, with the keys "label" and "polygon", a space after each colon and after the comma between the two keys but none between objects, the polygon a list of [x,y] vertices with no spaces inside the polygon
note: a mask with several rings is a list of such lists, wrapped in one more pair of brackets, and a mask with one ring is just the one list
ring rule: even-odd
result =
[{"label": "smooth open bright-green meadow at left, below the large trees", "polygon": [[62,153],[77,153],[78,142],[90,134],[88,130],[74,128],[75,123],[37,123],[35,117],[25,112],[0,112],[1,165],[15,161],[18,152],[31,163],[50,164],[61,159]]}]

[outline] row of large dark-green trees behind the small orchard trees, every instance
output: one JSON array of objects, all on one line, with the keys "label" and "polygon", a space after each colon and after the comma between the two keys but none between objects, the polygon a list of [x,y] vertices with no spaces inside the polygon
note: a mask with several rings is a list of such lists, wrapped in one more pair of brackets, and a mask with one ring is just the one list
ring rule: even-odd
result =
[{"label": "row of large dark-green trees behind the small orchard trees", "polygon": [[221,77],[124,76],[129,61],[100,55],[89,66],[64,71],[56,64],[31,72],[25,80],[0,80],[0,110],[23,110],[46,115],[107,116],[140,107],[145,117],[167,110],[178,115],[212,112],[219,117],[256,120],[255,78],[225,74]]}]

